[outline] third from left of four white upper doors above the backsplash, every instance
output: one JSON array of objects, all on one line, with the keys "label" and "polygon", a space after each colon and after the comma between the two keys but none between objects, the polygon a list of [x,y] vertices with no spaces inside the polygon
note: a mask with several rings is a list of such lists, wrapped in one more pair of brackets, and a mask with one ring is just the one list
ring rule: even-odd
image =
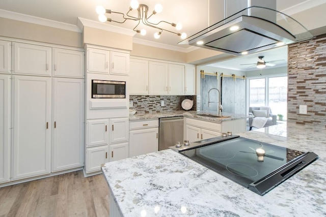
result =
[{"label": "third from left of four white upper doors above the backsplash", "polygon": [[184,95],[184,66],[169,64],[169,95]]}]

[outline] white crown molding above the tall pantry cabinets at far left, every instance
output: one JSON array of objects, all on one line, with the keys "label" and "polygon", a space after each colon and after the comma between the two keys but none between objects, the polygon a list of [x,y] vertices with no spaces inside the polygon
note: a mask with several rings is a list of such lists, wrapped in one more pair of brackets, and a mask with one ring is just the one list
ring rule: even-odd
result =
[{"label": "white crown molding above the tall pantry cabinets at far left", "polygon": [[18,21],[22,21],[22,22],[34,23],[34,24],[38,24],[38,25],[50,26],[53,28],[61,28],[61,29],[65,29],[65,30],[69,30],[72,32],[77,32],[77,33],[82,32],[76,25],[53,21],[53,20],[48,20],[48,19],[43,19],[40,17],[34,17],[34,16],[30,16],[30,15],[25,15],[25,14],[19,14],[19,13],[6,11],[6,10],[2,10],[2,9],[0,9],[0,17],[12,19],[12,20],[18,20]]}]

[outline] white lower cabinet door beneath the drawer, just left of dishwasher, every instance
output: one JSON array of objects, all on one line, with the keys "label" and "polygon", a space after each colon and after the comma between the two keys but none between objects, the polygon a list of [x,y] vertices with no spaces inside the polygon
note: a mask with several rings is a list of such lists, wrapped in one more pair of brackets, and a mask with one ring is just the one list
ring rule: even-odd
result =
[{"label": "white lower cabinet door beneath the drawer, just left of dishwasher", "polygon": [[129,157],[158,151],[158,128],[129,132]]}]

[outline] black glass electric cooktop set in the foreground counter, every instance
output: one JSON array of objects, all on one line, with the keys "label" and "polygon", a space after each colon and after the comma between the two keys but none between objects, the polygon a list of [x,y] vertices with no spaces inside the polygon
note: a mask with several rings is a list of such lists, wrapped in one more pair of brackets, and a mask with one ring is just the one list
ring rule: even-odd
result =
[{"label": "black glass electric cooktop set in the foreground counter", "polygon": [[[217,138],[217,137],[216,137]],[[302,152],[239,136],[208,139],[179,152],[215,172],[264,195],[318,159]]]}]

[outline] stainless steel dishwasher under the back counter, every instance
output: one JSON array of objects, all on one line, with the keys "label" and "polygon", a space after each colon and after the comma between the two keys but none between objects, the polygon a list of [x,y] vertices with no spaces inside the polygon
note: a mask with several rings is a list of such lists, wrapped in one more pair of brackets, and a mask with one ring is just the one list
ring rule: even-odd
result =
[{"label": "stainless steel dishwasher under the back counter", "polygon": [[159,118],[158,150],[183,143],[183,116]]}]

